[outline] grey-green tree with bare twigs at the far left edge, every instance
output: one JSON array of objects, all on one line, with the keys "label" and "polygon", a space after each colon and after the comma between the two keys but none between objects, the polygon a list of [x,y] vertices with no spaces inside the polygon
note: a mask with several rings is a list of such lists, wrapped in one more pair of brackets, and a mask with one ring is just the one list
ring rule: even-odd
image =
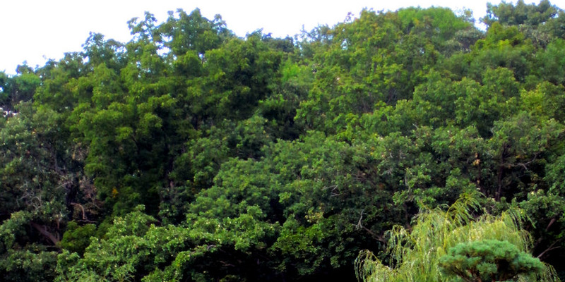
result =
[{"label": "grey-green tree with bare twigs at the far left edge", "polygon": [[0,276],[52,281],[67,216],[84,203],[81,173],[61,137],[59,114],[29,102],[16,110],[0,123]]}]

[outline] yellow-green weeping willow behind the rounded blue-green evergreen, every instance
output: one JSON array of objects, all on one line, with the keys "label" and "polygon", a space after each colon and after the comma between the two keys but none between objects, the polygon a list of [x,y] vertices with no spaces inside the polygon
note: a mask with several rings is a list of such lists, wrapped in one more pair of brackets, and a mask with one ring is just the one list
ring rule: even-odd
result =
[{"label": "yellow-green weeping willow behind the rounded blue-green evergreen", "polygon": [[[475,219],[479,209],[472,195],[462,195],[451,207],[427,209],[415,219],[412,231],[394,226],[388,235],[390,266],[384,265],[372,252],[363,251],[355,262],[357,278],[377,281],[453,281],[441,273],[439,258],[458,243],[478,240],[504,240],[529,252],[531,238],[522,228],[525,214],[509,209],[501,216],[485,213]],[[518,281],[559,281],[551,266],[542,274],[518,276]]]}]

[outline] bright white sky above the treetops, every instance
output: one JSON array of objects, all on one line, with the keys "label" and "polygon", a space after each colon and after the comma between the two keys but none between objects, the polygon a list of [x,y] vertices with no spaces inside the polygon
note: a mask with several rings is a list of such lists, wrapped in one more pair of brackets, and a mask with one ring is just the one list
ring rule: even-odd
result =
[{"label": "bright white sky above the treetops", "polygon": [[[359,15],[362,8],[394,11],[408,6],[446,6],[456,11],[465,7],[480,18],[487,9],[487,1],[470,0],[463,4],[449,0],[0,0],[0,71],[13,74],[23,61],[32,67],[42,66],[46,59],[58,60],[65,52],[81,51],[90,31],[102,33],[106,39],[127,42],[130,35],[126,22],[134,17],[143,18],[144,11],[162,22],[167,19],[167,11],[183,8],[190,13],[198,7],[206,18],[220,14],[238,36],[263,28],[273,37],[285,37],[299,33],[302,25],[306,30],[319,24],[334,25],[343,21],[348,12]],[[496,4],[500,0],[490,2]],[[565,0],[551,2],[565,8]]]}]

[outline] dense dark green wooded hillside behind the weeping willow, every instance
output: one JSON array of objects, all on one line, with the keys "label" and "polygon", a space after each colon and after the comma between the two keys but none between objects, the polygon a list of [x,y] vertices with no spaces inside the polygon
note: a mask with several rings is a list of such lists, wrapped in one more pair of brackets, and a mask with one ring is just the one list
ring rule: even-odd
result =
[{"label": "dense dark green wooded hillside behind the weeping willow", "polygon": [[523,250],[563,277],[565,11],[481,21],[364,10],[242,38],[145,13],[130,42],[0,73],[1,280],[355,280],[460,197],[468,220],[521,212]]}]

